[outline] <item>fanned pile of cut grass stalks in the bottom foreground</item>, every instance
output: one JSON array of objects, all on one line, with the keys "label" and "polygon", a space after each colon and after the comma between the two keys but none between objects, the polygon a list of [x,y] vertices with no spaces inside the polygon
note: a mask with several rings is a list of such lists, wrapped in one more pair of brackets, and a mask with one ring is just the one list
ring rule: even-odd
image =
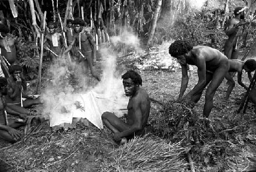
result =
[{"label": "fanned pile of cut grass stalks in the bottom foreground", "polygon": [[136,137],[113,151],[104,171],[183,171],[185,148],[160,138]]}]

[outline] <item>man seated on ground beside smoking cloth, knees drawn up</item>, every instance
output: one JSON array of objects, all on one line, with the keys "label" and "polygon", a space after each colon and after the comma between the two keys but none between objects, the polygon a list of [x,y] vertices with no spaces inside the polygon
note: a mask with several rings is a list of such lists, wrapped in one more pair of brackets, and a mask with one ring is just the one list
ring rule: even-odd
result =
[{"label": "man seated on ground beside smoking cloth, knees drawn up", "polygon": [[146,91],[140,88],[140,75],[129,70],[122,76],[126,96],[130,96],[127,105],[127,122],[123,122],[115,114],[104,112],[101,116],[103,124],[114,133],[114,140],[120,141],[123,137],[131,139],[134,135],[142,135],[150,114],[150,100]]}]

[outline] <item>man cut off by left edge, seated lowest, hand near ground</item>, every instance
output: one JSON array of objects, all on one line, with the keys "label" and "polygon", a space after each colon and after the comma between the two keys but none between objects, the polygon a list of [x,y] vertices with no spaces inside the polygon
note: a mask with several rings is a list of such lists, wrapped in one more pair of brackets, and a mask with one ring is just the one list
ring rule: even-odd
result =
[{"label": "man cut off by left edge, seated lowest, hand near ground", "polygon": [[5,99],[0,93],[0,138],[4,139],[10,143],[15,143],[20,139],[19,131],[14,128],[26,125],[26,121],[17,119],[8,119],[8,126],[6,124],[5,117]]}]

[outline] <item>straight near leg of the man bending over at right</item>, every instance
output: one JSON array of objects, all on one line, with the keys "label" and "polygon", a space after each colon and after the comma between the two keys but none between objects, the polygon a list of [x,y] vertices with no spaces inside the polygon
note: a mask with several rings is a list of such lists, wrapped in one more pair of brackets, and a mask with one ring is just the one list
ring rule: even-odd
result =
[{"label": "straight near leg of the man bending over at right", "polygon": [[203,116],[208,117],[212,106],[213,106],[213,99],[217,88],[220,86],[221,82],[223,81],[226,73],[229,70],[228,61],[223,61],[222,66],[215,70],[214,75],[212,76],[212,80],[206,90],[205,93],[205,103],[204,103],[204,110]]}]

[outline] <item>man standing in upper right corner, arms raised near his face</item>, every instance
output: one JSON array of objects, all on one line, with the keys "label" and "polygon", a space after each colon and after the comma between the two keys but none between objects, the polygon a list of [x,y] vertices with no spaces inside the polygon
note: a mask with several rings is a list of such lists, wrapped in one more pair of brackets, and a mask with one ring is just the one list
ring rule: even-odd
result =
[{"label": "man standing in upper right corner, arms raised near his face", "polygon": [[224,45],[224,54],[228,59],[238,58],[238,45],[242,36],[242,26],[249,23],[249,21],[245,20],[245,9],[246,7],[234,9],[235,17],[227,22],[226,35],[228,39]]}]

